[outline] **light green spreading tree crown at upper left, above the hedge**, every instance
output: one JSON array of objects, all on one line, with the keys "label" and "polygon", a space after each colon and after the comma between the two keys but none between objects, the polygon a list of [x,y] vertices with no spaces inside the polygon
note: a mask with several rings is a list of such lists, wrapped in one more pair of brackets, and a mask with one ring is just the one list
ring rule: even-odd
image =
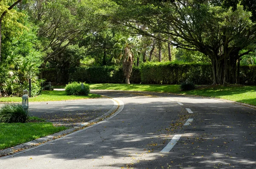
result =
[{"label": "light green spreading tree crown at upper left, above the hedge", "polygon": [[114,6],[110,0],[31,0],[27,10],[44,42],[42,66],[60,56],[67,46],[108,27],[108,13],[114,11]]}]

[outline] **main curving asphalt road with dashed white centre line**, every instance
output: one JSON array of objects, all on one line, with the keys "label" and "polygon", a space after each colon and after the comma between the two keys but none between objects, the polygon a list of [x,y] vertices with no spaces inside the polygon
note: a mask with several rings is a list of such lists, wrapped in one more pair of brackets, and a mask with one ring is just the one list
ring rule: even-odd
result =
[{"label": "main curving asphalt road with dashed white centre line", "polygon": [[93,93],[123,101],[124,109],[86,130],[0,158],[0,168],[256,169],[256,110],[201,97]]}]

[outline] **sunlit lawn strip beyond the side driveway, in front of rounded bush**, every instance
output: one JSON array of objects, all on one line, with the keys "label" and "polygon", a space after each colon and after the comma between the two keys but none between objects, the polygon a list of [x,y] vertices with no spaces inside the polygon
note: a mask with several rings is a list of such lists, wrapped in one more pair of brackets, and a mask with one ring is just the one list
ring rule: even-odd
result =
[{"label": "sunlit lawn strip beyond the side driveway, in front of rounded bush", "polygon": [[[88,96],[67,96],[65,91],[45,90],[42,95],[29,98],[29,102],[35,101],[62,101],[62,100],[76,100],[76,99],[92,99],[99,98],[100,95],[88,94]],[[21,102],[21,97],[1,97],[0,102]]]}]

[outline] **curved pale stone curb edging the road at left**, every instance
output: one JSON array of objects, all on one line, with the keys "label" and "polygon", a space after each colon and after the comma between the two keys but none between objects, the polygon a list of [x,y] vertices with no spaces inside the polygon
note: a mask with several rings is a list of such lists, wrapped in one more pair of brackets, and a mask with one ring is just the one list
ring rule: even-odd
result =
[{"label": "curved pale stone curb edging the road at left", "polygon": [[[39,146],[46,142],[51,142],[51,141],[57,140],[59,138],[63,138],[64,136],[73,134],[74,132],[86,130],[87,128],[90,128],[97,124],[100,124],[103,121],[109,120],[110,118],[114,117],[115,115],[117,115],[118,113],[120,113],[122,111],[122,109],[124,107],[124,103],[121,100],[115,99],[115,98],[110,98],[107,96],[104,96],[104,97],[111,99],[114,102],[113,107],[107,113],[104,113],[103,115],[101,115],[98,118],[95,118],[95,119],[88,121],[86,123],[83,123],[83,124],[79,124],[78,126],[72,127],[70,129],[54,133],[52,135],[48,135],[43,138],[38,138],[36,140],[29,141],[29,142],[26,142],[26,143],[23,143],[23,144],[14,146],[14,147],[10,147],[8,149],[0,150],[0,157],[3,157],[3,156],[8,157],[7,155],[13,155],[15,152],[23,152],[24,150],[29,149],[31,147]],[[6,157],[4,157],[4,158],[6,158]]]}]

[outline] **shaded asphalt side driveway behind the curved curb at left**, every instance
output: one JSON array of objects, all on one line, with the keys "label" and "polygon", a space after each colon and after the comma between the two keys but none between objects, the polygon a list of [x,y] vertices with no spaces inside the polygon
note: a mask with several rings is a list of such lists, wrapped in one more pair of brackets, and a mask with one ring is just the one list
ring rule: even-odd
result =
[{"label": "shaded asphalt side driveway behind the curved curb at left", "polygon": [[31,102],[29,115],[44,118],[54,125],[77,126],[108,112],[113,101],[107,98]]}]

